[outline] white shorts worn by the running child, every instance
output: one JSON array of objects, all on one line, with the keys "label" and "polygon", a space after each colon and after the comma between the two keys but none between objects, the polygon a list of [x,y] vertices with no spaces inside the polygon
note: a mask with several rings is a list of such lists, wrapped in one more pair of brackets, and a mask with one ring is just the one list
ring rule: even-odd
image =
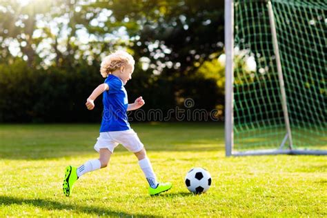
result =
[{"label": "white shorts worn by the running child", "polygon": [[142,150],[143,143],[139,140],[137,133],[134,130],[123,130],[113,132],[100,132],[100,136],[95,143],[95,150],[100,151],[100,148],[108,148],[110,152],[114,152],[114,149],[121,143],[127,150],[131,152],[139,152]]}]

